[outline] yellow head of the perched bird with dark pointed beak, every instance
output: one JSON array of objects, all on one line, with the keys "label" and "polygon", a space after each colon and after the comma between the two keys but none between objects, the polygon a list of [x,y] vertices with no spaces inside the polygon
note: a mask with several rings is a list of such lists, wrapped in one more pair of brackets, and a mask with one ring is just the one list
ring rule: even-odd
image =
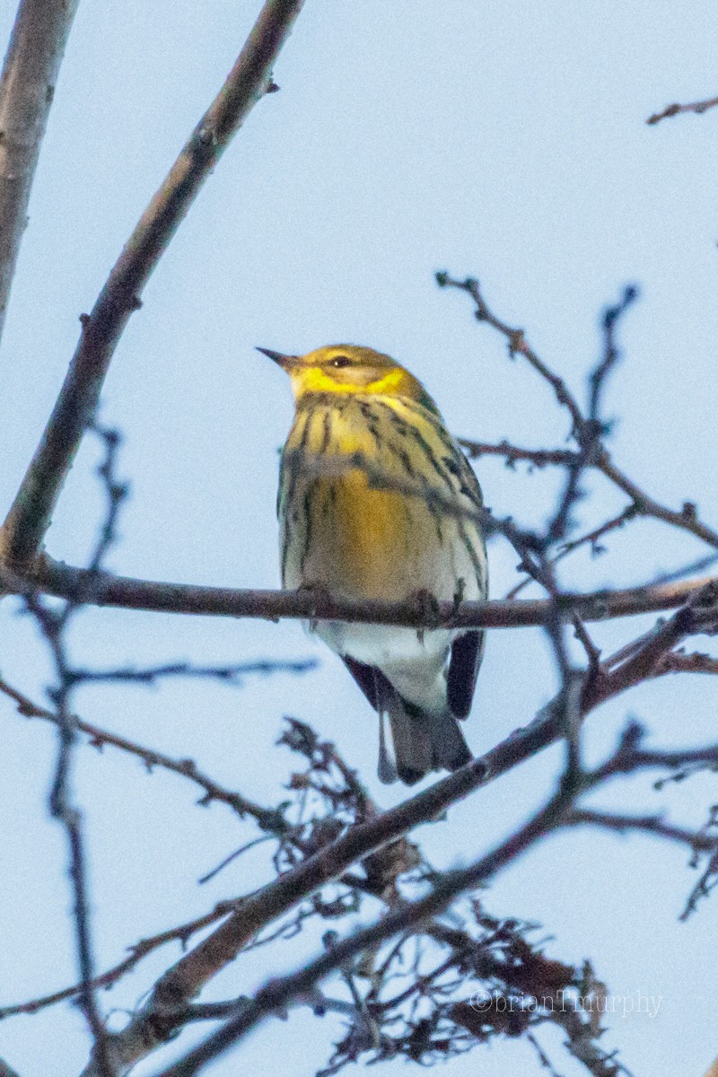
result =
[{"label": "yellow head of the perched bird with dark pointed beak", "polygon": [[306,355],[283,355],[268,348],[257,348],[257,351],[286,370],[297,402],[308,393],[362,393],[403,396],[436,410],[421,381],[390,355],[374,348],[333,344]]}]

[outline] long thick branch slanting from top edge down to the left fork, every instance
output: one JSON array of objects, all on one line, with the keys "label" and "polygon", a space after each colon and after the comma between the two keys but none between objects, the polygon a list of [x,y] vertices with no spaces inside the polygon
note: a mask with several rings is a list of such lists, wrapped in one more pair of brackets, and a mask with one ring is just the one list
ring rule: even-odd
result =
[{"label": "long thick branch slanting from top edge down to the left fork", "polygon": [[113,352],[140,295],[223,150],[271,86],[271,68],[302,0],[266,0],[237,62],[199,121],[110,274],[20,489],[0,532],[0,557],[26,564],[50,527],[62,484],[91,421]]}]

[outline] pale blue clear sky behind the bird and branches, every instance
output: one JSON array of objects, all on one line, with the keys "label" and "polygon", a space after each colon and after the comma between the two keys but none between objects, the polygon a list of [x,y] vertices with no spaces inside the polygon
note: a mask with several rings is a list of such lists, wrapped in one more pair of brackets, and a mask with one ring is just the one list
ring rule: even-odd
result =
[{"label": "pale blue clear sky behind the bird and branches", "polygon": [[[3,38],[13,6],[0,13]],[[3,512],[65,374],[78,316],[91,306],[257,10],[257,0],[81,3],[0,353]],[[548,390],[506,360],[504,344],[473,321],[466,297],[435,286],[434,270],[445,267],[480,276],[499,316],[525,325],[579,392],[600,348],[597,312],[637,281],[643,297],[622,326],[627,358],[609,393],[620,418],[616,458],[667,503],[696,500],[715,526],[718,112],[658,127],[644,121],[670,101],[717,92],[717,30],[715,4],[691,0],[307,0],[277,65],[282,92],[259,104],[227,151],[108,378],[103,417],[126,435],[122,467],[132,482],[112,567],[182,582],[277,585],[276,453],[291,401],[283,376],[254,345],[372,345],[425,381],[456,434],[560,442],[565,418]],[[85,555],[97,518],[95,459],[91,446],[80,453],[48,535],[51,553],[71,562]],[[488,503],[522,521],[539,520],[555,489],[555,476],[526,478],[493,461],[481,461],[479,474]],[[585,512],[588,526],[622,504],[605,482],[592,488],[600,494]],[[648,523],[616,535],[610,547],[610,560],[576,558],[564,578],[582,588],[640,582],[702,551]],[[498,597],[515,557],[497,543],[491,555]],[[47,676],[42,647],[8,603],[1,616],[0,669],[39,697]],[[650,624],[624,621],[595,638],[616,647]],[[86,690],[78,705],[88,721],[192,756],[266,802],[281,798],[292,766],[272,747],[282,715],[292,713],[314,722],[371,775],[382,805],[402,796],[372,777],[376,731],[363,698],[294,623],[91,611],[73,646],[79,661],[100,665],[316,655],[321,669],[300,681],[255,681],[240,693],[198,684]],[[468,725],[474,751],[527,721],[552,686],[540,632],[493,633]],[[592,716],[593,757],[628,713],[650,725],[656,743],[715,739],[713,682],[674,677]],[[4,701],[0,716],[4,1004],[62,987],[75,969],[65,840],[45,809],[54,733]],[[423,828],[435,863],[464,863],[515,827],[550,788],[558,758],[544,754],[455,808],[448,824]],[[147,777],[129,758],[85,749],[76,789],[101,968],[139,937],[265,878],[261,861],[248,859],[197,887],[198,876],[254,831],[220,806],[196,810],[195,789],[179,779]],[[611,802],[667,807],[700,825],[716,794],[715,778],[662,794],[645,779],[621,783]],[[660,996],[658,1017],[618,1017],[605,1036],[636,1074],[700,1077],[718,1053],[718,906],[705,903],[679,924],[693,881],[684,850],[581,831],[525,856],[485,901],[496,914],[541,922],[553,935],[549,953],[576,963],[590,956],[614,994]],[[251,990],[315,945],[310,933],[271,955],[242,957],[207,997]],[[168,949],[142,963],[112,996],[115,1005],[136,1005],[177,955]],[[212,1074],[279,1066],[304,1077],[325,1063],[340,1034],[334,1019],[297,1011],[266,1024]],[[540,1036],[561,1073],[583,1073],[564,1061],[555,1032]],[[175,1053],[172,1046],[164,1058]],[[2,1023],[0,1055],[20,1077],[76,1074],[86,1059],[79,1011],[66,1005]],[[138,1067],[138,1077],[160,1061]],[[513,1040],[450,1068],[455,1077],[541,1072],[531,1048]]]}]

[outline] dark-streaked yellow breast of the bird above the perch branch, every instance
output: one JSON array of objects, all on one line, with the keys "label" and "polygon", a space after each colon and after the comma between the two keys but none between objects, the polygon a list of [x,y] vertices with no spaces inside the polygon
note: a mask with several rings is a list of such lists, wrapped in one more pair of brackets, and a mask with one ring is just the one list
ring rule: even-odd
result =
[{"label": "dark-streaked yellow breast of the bird above the perch branch", "polygon": [[451,598],[459,575],[477,585],[475,529],[469,535],[425,499],[391,489],[459,493],[446,446],[418,419],[396,404],[357,397],[318,397],[298,412],[280,485],[285,587],[319,584],[336,595],[399,600],[421,589]]}]

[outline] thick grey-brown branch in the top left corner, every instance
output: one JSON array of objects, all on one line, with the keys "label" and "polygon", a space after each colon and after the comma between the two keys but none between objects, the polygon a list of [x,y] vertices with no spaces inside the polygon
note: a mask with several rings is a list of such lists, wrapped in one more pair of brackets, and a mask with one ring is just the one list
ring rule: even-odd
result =
[{"label": "thick grey-brown branch in the top left corner", "polygon": [[22,0],[0,79],[0,337],[78,0]]}]

